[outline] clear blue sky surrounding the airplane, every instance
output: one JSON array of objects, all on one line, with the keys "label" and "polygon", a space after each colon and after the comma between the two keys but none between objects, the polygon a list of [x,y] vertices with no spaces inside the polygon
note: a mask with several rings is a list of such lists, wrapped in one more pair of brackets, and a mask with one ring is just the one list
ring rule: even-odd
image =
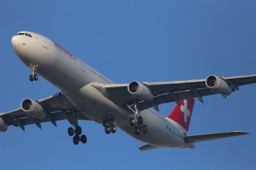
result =
[{"label": "clear blue sky surrounding the airplane", "polygon": [[[11,45],[17,32],[42,34],[116,83],[256,74],[256,2],[249,0],[1,0],[0,112],[60,89],[30,71]],[[249,135],[196,143],[195,149],[141,152],[117,129],[80,121],[88,142],[75,146],[68,121],[0,132],[0,169],[255,169],[256,84],[196,100],[188,134],[243,130]],[[167,116],[174,103],[160,105]]]}]

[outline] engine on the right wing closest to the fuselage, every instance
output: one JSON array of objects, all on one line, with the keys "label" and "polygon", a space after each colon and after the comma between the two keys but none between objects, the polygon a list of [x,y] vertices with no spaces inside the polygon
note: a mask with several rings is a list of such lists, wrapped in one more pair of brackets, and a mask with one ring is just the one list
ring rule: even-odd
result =
[{"label": "engine on the right wing closest to the fuselage", "polygon": [[152,101],[154,99],[154,95],[150,89],[138,81],[131,81],[128,85],[128,91],[137,99],[145,101]]}]

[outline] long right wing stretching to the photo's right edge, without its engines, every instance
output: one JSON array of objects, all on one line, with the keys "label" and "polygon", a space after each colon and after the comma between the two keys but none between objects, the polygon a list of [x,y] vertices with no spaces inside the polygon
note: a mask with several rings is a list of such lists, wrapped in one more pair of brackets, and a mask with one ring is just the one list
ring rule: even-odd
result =
[{"label": "long right wing stretching to the photo's right edge, without its engines", "polygon": [[[232,91],[239,90],[239,86],[256,83],[256,75],[244,75],[236,77],[220,77]],[[154,107],[158,110],[158,105],[162,103],[176,102],[179,104],[180,100],[197,97],[203,102],[203,96],[215,95],[214,91],[206,86],[206,79],[185,80],[185,81],[166,81],[166,82],[144,82],[145,85],[154,95],[154,99],[150,102],[136,99],[139,102],[140,111]],[[93,83],[92,86],[98,89],[102,94],[107,96],[114,103],[119,105],[132,106],[135,97],[128,91],[126,84],[100,84]],[[225,95],[223,95],[226,97]]]}]

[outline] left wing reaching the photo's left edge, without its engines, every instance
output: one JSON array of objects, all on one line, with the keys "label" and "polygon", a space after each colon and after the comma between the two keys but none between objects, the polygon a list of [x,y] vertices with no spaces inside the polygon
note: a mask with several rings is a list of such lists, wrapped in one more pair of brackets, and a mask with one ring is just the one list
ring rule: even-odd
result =
[{"label": "left wing reaching the photo's left edge, without its engines", "polygon": [[[8,126],[13,125],[15,127],[20,127],[24,131],[25,125],[36,124],[36,126],[42,129],[41,123],[51,122],[54,126],[57,126],[56,121],[64,119],[67,119],[72,125],[74,124],[74,119],[70,113],[72,111],[77,111],[77,109],[62,92],[37,102],[46,110],[47,115],[44,119],[30,117],[24,113],[21,108],[6,113],[0,113],[0,117],[4,119]],[[82,113],[78,114],[78,119],[90,120]]]}]

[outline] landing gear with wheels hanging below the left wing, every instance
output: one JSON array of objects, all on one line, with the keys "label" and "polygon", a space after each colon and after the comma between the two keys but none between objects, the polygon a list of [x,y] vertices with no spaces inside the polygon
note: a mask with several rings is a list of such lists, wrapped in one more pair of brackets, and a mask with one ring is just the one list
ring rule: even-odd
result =
[{"label": "landing gear with wheels hanging below the left wing", "polygon": [[82,128],[78,125],[78,119],[77,119],[78,113],[75,113],[72,111],[72,115],[74,118],[74,128],[72,127],[68,128],[68,135],[74,136],[73,143],[75,145],[77,145],[79,141],[81,141],[82,143],[86,143],[87,142],[86,136],[84,134],[80,136],[80,134],[82,134]]}]

